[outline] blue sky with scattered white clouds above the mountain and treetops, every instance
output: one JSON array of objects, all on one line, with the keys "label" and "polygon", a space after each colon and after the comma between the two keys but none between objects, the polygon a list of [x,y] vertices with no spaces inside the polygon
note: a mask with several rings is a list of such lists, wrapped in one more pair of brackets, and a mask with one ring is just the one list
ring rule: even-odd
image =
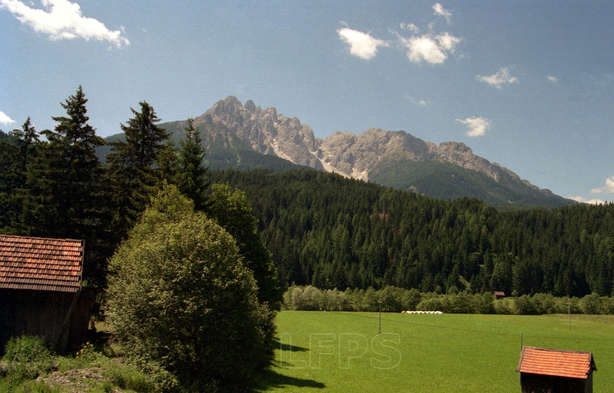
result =
[{"label": "blue sky with scattered white clouds above the mountain and treetops", "polygon": [[234,95],[316,137],[466,143],[577,200],[614,200],[614,2],[0,0],[0,129],[40,131],[82,85],[90,124]]}]

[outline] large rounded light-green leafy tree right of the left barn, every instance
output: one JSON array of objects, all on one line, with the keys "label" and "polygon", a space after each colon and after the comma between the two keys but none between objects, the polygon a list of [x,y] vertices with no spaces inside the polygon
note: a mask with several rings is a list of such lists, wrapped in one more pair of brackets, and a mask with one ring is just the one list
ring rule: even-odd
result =
[{"label": "large rounded light-green leafy tree right of the left barn", "polygon": [[111,259],[112,332],[186,391],[244,391],[271,361],[274,313],[241,260],[228,232],[166,187]]}]

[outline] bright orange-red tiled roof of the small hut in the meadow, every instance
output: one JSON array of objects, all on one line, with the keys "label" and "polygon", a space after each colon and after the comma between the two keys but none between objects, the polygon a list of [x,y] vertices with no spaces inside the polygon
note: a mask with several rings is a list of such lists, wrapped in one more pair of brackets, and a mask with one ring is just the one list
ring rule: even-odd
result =
[{"label": "bright orange-red tiled roof of the small hut in the meadow", "polygon": [[569,378],[588,378],[591,371],[597,370],[593,353],[564,351],[525,346],[516,371],[541,375],[566,376]]}]

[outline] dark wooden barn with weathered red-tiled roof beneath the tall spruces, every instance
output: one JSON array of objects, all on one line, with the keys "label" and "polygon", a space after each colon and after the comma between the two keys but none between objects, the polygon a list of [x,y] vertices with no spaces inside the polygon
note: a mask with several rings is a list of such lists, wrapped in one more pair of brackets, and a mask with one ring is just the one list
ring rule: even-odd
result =
[{"label": "dark wooden barn with weathered red-tiled roof beneath the tall spruces", "polygon": [[86,341],[93,298],[81,291],[83,258],[83,240],[0,235],[0,353],[21,335],[60,351]]}]

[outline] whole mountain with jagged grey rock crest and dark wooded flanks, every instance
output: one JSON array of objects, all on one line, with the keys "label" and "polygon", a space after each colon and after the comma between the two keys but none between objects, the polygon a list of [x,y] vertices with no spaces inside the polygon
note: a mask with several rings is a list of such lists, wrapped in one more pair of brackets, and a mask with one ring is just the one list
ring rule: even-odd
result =
[{"label": "whole mountain with jagged grey rock crest and dark wooded flanks", "polygon": [[[160,126],[180,139],[186,124],[172,121]],[[216,102],[194,118],[194,125],[201,131],[212,169],[303,166],[441,199],[476,197],[498,207],[575,204],[474,155],[460,142],[437,145],[405,131],[379,128],[359,135],[335,132],[319,139],[298,118],[273,107],[261,109],[251,100],[243,105],[234,96]]]}]

